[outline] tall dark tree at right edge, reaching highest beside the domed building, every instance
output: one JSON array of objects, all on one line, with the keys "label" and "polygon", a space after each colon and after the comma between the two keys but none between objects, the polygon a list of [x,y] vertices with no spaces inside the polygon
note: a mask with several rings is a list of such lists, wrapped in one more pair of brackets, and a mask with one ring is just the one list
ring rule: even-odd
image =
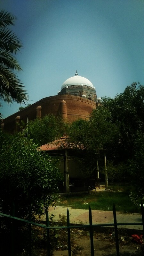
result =
[{"label": "tall dark tree at right edge, reaching highest beside the domed building", "polygon": [[144,132],[144,87],[132,83],[114,99],[103,98],[103,105],[109,109],[112,123],[119,127],[119,143],[115,144],[117,161],[127,161],[134,154],[137,131]]}]

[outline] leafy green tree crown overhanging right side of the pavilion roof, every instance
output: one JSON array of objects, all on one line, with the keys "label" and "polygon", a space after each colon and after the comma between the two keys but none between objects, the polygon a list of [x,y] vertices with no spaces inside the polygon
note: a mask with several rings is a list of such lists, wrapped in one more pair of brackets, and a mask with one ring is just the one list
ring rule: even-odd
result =
[{"label": "leafy green tree crown overhanging right side of the pavilion roof", "polygon": [[67,128],[70,141],[95,154],[108,149],[118,132],[117,126],[112,123],[110,111],[104,106],[94,109],[89,120],[77,120]]}]

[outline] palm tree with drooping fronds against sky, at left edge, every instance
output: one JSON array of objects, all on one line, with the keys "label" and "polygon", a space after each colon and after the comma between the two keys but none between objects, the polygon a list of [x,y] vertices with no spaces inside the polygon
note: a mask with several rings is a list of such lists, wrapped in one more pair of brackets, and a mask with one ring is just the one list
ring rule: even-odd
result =
[{"label": "palm tree with drooping fronds against sky, at left edge", "polygon": [[28,100],[25,87],[16,75],[22,69],[14,55],[20,51],[22,43],[8,28],[15,20],[11,13],[0,11],[0,99],[8,104],[12,100],[20,104]]}]

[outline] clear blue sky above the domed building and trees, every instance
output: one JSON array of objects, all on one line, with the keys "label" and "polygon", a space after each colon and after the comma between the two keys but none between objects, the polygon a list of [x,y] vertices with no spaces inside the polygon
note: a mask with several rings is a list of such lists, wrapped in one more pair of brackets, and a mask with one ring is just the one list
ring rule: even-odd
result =
[{"label": "clear blue sky above the domed building and trees", "polygon": [[[98,97],[144,84],[143,0],[1,0],[0,6],[17,18],[11,29],[24,46],[16,58],[28,104],[57,95],[76,70]],[[20,107],[2,104],[3,118]]]}]

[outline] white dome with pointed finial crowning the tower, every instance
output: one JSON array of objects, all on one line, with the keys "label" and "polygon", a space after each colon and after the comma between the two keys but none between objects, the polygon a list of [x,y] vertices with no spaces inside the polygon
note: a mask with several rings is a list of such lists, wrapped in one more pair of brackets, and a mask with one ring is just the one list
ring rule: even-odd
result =
[{"label": "white dome with pointed finial crowning the tower", "polygon": [[61,86],[61,90],[63,88],[65,88],[66,86],[71,86],[71,85],[78,85],[78,86],[90,86],[93,88],[93,85],[91,83],[91,81],[89,81],[87,78],[83,77],[83,76],[78,76],[77,72],[75,74],[75,76],[72,76],[70,78],[68,78],[66,81],[64,81],[64,83]]}]

